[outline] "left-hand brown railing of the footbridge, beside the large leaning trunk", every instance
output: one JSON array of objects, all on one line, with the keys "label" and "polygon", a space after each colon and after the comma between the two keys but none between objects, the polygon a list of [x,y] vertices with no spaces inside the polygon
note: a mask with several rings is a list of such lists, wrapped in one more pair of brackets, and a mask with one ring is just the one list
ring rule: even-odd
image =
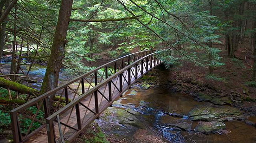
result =
[{"label": "left-hand brown railing of the footbridge, beside the large leaning trunk", "polygon": [[[45,128],[47,117],[69,105],[70,102],[78,99],[96,85],[101,84],[108,77],[128,66],[128,63],[137,61],[154,51],[137,52],[108,62],[10,111],[14,143],[28,140],[32,135]],[[53,106],[48,107],[49,103],[52,103]],[[81,104],[81,106],[84,105]],[[97,109],[94,113],[98,113]]]}]

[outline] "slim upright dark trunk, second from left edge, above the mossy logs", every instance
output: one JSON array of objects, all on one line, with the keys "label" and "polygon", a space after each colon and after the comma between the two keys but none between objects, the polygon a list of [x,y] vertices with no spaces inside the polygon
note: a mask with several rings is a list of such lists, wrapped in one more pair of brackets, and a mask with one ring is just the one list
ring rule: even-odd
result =
[{"label": "slim upright dark trunk, second from left edge, above the mossy logs", "polygon": [[[15,5],[15,14],[14,14],[14,38],[13,38],[13,47],[12,47],[12,64],[11,64],[11,70],[10,74],[14,74],[16,71],[17,63],[16,63],[16,35],[17,35],[17,27],[16,27],[16,21],[17,21],[17,5]],[[10,77],[12,81],[15,81],[15,76]]]}]

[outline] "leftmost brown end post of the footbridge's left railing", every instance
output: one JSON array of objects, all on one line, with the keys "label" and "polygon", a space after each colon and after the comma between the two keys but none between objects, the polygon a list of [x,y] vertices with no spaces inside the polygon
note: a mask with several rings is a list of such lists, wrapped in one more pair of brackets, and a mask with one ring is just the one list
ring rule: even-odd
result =
[{"label": "leftmost brown end post of the footbridge's left railing", "polygon": [[17,113],[11,112],[11,124],[12,124],[13,141],[14,143],[19,143],[21,142],[21,137],[19,135]]}]

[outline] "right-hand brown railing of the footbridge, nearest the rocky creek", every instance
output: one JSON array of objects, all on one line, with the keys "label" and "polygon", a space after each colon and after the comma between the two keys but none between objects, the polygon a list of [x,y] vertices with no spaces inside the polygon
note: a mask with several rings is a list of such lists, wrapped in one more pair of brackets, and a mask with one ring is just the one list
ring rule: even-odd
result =
[{"label": "right-hand brown railing of the footbridge, nearest the rocky creek", "polygon": [[128,60],[127,66],[46,119],[49,143],[72,141],[141,76],[161,63],[155,53]]}]

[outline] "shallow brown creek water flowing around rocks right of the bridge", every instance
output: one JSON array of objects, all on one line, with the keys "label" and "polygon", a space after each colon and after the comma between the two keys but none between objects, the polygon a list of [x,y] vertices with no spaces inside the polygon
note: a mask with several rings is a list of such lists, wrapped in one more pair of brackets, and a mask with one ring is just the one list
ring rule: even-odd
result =
[{"label": "shallow brown creek water flowing around rocks right of the bridge", "polygon": [[[171,91],[161,88],[143,90],[136,87],[128,90],[123,97],[120,97],[120,99],[113,104],[113,107],[123,110],[133,108],[143,117],[139,119],[139,122],[146,124],[144,126],[153,128],[159,139],[163,140],[153,141],[150,136],[148,136],[148,138],[143,139],[144,143],[256,143],[256,128],[247,125],[245,121],[224,122],[226,124],[225,134],[223,132],[210,133],[209,135],[203,133],[198,134],[193,131],[177,131],[177,129],[165,126],[171,121],[182,120],[187,123],[192,123],[193,130],[199,122],[189,121],[187,114],[194,106],[204,103],[205,102],[195,101],[193,97],[187,94],[172,93]],[[127,105],[128,107],[122,105]],[[144,110],[142,110],[142,108]],[[111,112],[111,110],[114,109],[110,108],[108,111]],[[183,115],[183,117],[173,117],[166,113],[176,113]],[[130,120],[133,119],[129,119],[129,121]],[[256,122],[256,117],[250,117],[250,120]],[[104,123],[101,121],[99,121],[99,123],[101,126],[104,126]],[[123,123],[120,124],[122,124],[121,126],[125,126]],[[137,129],[139,130],[140,128],[141,127],[138,127]],[[112,128],[112,130],[115,129],[118,130],[117,128]],[[134,130],[127,126],[125,129],[127,129],[127,131]],[[149,130],[149,128],[146,129]],[[132,136],[135,132],[136,131],[126,136]],[[115,134],[119,134],[119,132],[115,132]]]}]

